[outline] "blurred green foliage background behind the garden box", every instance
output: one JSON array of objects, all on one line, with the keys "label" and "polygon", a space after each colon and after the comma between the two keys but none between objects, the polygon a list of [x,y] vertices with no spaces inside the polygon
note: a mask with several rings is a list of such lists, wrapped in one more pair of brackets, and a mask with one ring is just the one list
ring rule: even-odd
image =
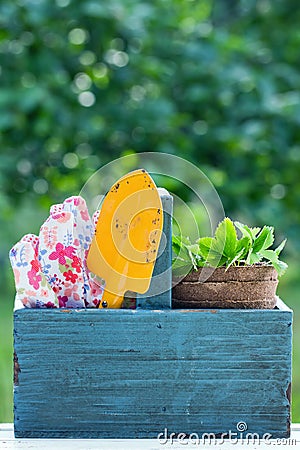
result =
[{"label": "blurred green foliage background behind the garden box", "polygon": [[[0,421],[12,420],[9,248],[132,152],[182,156],[234,219],[288,237],[300,421],[300,8],[296,0],[2,0]],[[180,192],[177,192],[180,195]]]}]

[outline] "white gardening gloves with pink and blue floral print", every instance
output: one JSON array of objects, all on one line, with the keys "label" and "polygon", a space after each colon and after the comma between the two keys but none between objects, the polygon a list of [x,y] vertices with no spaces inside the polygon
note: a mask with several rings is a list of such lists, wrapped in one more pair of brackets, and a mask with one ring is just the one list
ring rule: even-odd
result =
[{"label": "white gardening gloves with pink and blue floral print", "polygon": [[[104,282],[86,264],[94,232],[82,197],[70,197],[62,204],[51,206],[39,237],[24,236],[10,252],[16,302],[21,301],[26,307],[97,307]],[[45,289],[40,291],[40,286]],[[48,302],[43,298],[47,292]]]}]

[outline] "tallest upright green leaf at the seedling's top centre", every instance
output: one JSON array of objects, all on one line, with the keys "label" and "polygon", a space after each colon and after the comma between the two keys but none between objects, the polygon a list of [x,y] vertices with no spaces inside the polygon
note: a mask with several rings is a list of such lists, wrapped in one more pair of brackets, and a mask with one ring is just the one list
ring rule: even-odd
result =
[{"label": "tallest upright green leaf at the seedling's top centre", "polygon": [[233,222],[226,217],[217,227],[214,250],[231,259],[236,254],[237,235]]}]

